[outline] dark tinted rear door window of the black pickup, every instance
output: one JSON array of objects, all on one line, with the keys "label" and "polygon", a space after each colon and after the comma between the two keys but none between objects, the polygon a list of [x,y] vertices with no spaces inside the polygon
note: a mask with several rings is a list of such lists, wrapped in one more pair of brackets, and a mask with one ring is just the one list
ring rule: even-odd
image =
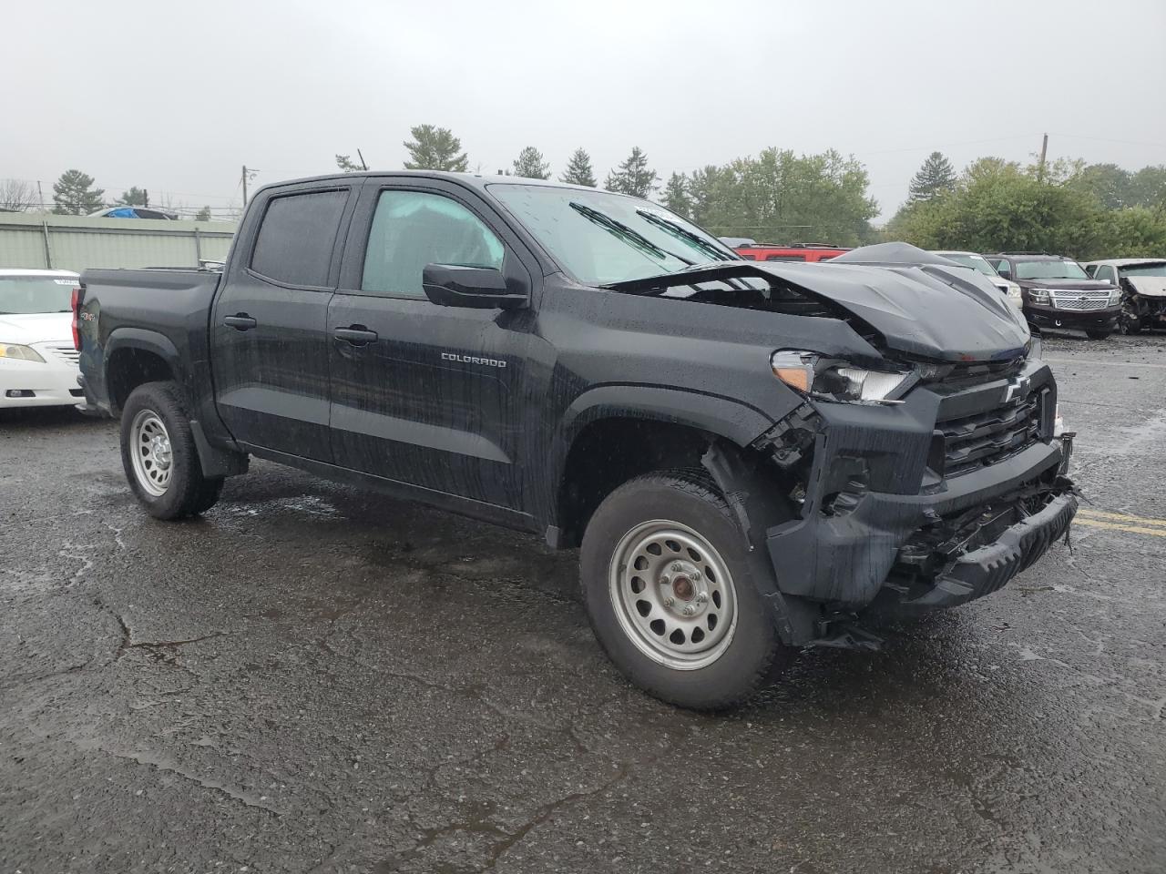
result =
[{"label": "dark tinted rear door window of the black pickup", "polygon": [[326,286],[347,196],[347,191],[312,191],[272,198],[251,269],[289,286]]}]

